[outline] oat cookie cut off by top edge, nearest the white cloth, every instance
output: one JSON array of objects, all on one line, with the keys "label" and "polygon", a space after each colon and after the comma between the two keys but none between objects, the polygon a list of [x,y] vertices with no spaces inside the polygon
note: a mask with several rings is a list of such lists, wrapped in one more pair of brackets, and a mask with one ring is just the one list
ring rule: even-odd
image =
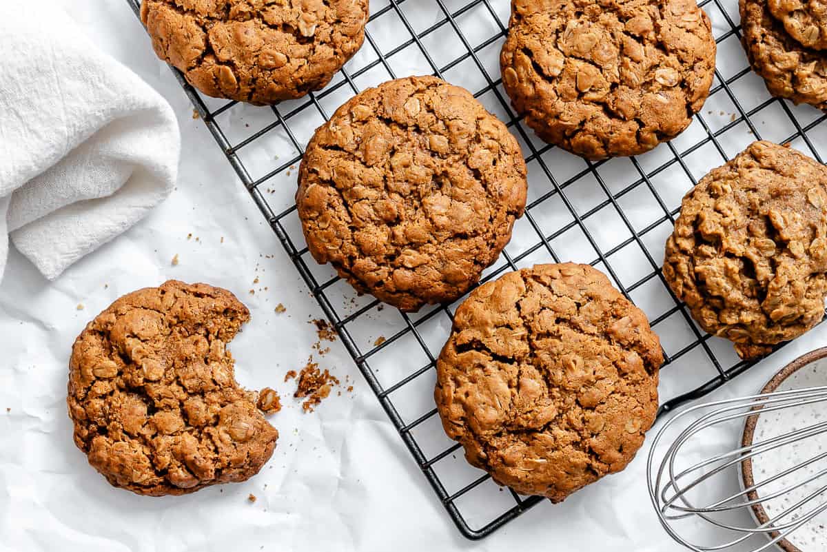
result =
[{"label": "oat cookie cut off by top edge, nearest the white cloth", "polygon": [[365,37],[368,0],[144,0],[155,53],[208,96],[256,105],[323,88]]}]

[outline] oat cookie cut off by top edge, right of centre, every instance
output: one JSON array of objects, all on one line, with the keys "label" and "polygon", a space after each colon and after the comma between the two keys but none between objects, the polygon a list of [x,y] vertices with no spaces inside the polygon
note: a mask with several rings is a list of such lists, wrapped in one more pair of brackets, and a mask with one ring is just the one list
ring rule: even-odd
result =
[{"label": "oat cookie cut off by top edge, right of centre", "polygon": [[695,0],[513,0],[500,66],[543,140],[587,159],[639,155],[703,106],[715,40]]}]

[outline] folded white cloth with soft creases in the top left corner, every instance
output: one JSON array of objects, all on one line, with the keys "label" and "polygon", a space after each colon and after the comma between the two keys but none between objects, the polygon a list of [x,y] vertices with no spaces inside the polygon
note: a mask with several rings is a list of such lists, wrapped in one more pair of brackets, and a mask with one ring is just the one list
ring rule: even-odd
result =
[{"label": "folded white cloth with soft creases in the top left corner", "polygon": [[167,197],[170,105],[50,0],[0,2],[0,276],[8,235],[46,278]]}]

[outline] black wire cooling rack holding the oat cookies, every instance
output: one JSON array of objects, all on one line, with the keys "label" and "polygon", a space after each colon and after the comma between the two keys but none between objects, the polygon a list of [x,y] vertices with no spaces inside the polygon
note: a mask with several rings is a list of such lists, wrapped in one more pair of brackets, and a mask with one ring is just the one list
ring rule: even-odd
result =
[{"label": "black wire cooling rack holding the oat cookies", "polygon": [[[139,11],[140,0],[127,2]],[[442,432],[433,407],[434,365],[450,331],[454,305],[416,315],[383,308],[372,297],[356,297],[329,267],[319,267],[308,255],[291,178],[304,145],[336,107],[388,79],[435,74],[471,90],[489,111],[508,121],[528,154],[528,208],[485,280],[552,260],[586,262],[609,274],[647,313],[662,338],[666,361],[660,393],[666,400],[659,414],[671,411],[752,365],[740,361],[729,342],[700,331],[663,279],[663,245],[681,197],[753,140],[791,142],[820,162],[827,155],[827,125],[821,124],[827,116],[770,98],[748,69],[737,0],[700,4],[714,23],[718,42],[710,98],[681,136],[630,159],[586,162],[537,140],[514,117],[498,64],[508,0],[371,2],[365,45],[332,83],[273,107],[202,97],[174,70],[439,501],[469,539],[490,535],[543,500],[504,492],[466,464],[460,445]],[[374,339],[378,331],[388,336]]]}]

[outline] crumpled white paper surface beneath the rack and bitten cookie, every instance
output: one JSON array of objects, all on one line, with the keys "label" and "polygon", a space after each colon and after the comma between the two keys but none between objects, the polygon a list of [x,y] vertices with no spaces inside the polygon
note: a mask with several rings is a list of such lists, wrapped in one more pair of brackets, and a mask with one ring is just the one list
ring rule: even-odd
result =
[{"label": "crumpled white paper surface beneath the rack and bitten cookie", "polygon": [[[422,1],[405,2],[406,12],[426,12],[431,21],[437,21],[438,14],[428,12],[431,8],[418,7]],[[452,9],[462,3],[448,2]],[[733,5],[724,3],[728,7]],[[507,2],[497,0],[494,4],[500,17],[504,17]],[[232,169],[218,155],[202,122],[192,119],[192,107],[184,93],[169,69],[155,59],[141,26],[122,0],[65,0],[65,5],[98,45],[169,99],[179,118],[184,148],[179,182],[170,199],[122,237],[70,267],[54,283],[46,282],[22,255],[14,251],[10,255],[7,274],[0,284],[0,350],[5,360],[0,365],[0,551],[327,552],[518,547],[617,552],[681,550],[662,531],[651,510],[645,484],[645,448],[624,473],[605,478],[562,505],[540,504],[495,535],[472,543],[464,540],[452,525],[339,343],[332,345],[322,367],[332,369],[342,379],[349,375],[354,393],[330,397],[315,413],[302,414],[289,398],[292,384],[283,383],[282,379],[287,369],[304,365],[317,340],[315,329],[307,323],[309,318],[321,316],[313,298],[308,297],[304,283]],[[737,15],[734,17],[737,21]],[[406,31],[383,19],[371,23],[371,32],[387,50],[393,47],[394,40],[396,44],[404,40],[402,33]],[[471,25],[464,18],[458,24],[464,26],[468,35],[479,32],[474,35],[477,43],[490,34],[490,29]],[[453,55],[453,43],[440,40],[439,45],[433,51]],[[495,55],[498,48],[499,43],[485,50],[486,64],[491,52]],[[738,60],[736,69],[743,66],[743,51],[737,41],[722,46],[719,62],[727,56]],[[363,48],[357,58],[356,62],[370,59],[369,50]],[[393,64],[398,74],[425,70],[416,70],[418,66],[413,62],[406,65],[395,58]],[[474,77],[466,62],[446,76],[469,88],[480,88],[479,83],[469,82]],[[370,73],[360,79],[359,85],[371,79],[378,82],[383,77]],[[751,88],[740,92],[745,104],[751,104],[753,97],[766,95],[758,83],[749,82]],[[489,101],[490,94],[482,100]],[[711,98],[705,110],[715,109],[717,113],[719,101],[723,100]],[[341,99],[333,95],[327,102],[326,109],[336,107]],[[810,120],[817,115],[810,108],[796,110],[799,112]],[[225,114],[223,121],[231,128],[235,125],[239,132],[249,132],[260,122],[254,113],[266,110],[240,106]],[[244,121],[249,121],[251,127],[244,126]],[[721,116],[721,122],[729,122],[729,115]],[[697,139],[696,131],[697,126],[693,126],[679,139],[687,141],[678,145],[690,145],[688,140],[692,136]],[[774,137],[773,132],[774,128],[767,131],[767,136]],[[732,150],[730,155],[751,140],[743,125],[727,136],[722,137],[722,142],[728,152]],[[306,140],[304,136],[299,139]],[[268,144],[246,152],[245,160],[251,167],[272,169],[274,155],[280,155],[280,159],[293,155],[286,142]],[[269,146],[273,150],[266,150]],[[658,155],[662,155],[664,147],[644,156],[642,162],[660,159]],[[552,151],[557,173],[566,173],[581,163]],[[707,155],[705,151],[701,153],[707,164],[719,164],[717,154]],[[697,157],[687,162],[694,167]],[[537,164],[529,165],[529,171],[530,193],[537,197],[543,190],[543,184],[537,183]],[[619,171],[607,173],[609,186],[614,178],[619,178]],[[269,186],[275,192],[268,197],[275,204],[289,204],[294,186],[294,178],[276,179]],[[590,195],[593,192],[586,188],[571,192],[578,202],[594,199]],[[675,194],[677,201],[680,195]],[[645,215],[643,206],[633,207]],[[522,245],[521,232],[520,228],[515,231],[510,248]],[[188,240],[189,233],[193,237]],[[660,235],[655,232],[654,237],[659,242],[655,249],[661,248]],[[576,253],[573,251],[572,256]],[[180,263],[171,266],[170,259],[175,254]],[[540,255],[536,260],[548,259]],[[327,274],[324,269],[313,270]],[[256,276],[260,283],[254,286]],[[237,357],[238,379],[250,388],[278,388],[288,406],[273,418],[281,433],[279,445],[270,464],[256,478],[247,483],[204,489],[189,497],[157,499],[112,489],[88,467],[71,441],[65,414],[65,385],[69,348],[84,323],[123,293],[155,285],[165,278],[204,280],[229,288],[251,307],[252,321],[231,347]],[[267,291],[263,291],[265,286]],[[250,288],[256,288],[255,295],[247,293]],[[343,302],[349,301],[351,295],[342,289]],[[644,310],[656,307],[653,295],[643,291],[634,295]],[[288,309],[281,315],[273,310],[279,302]],[[84,305],[83,311],[76,310],[79,303]],[[391,309],[377,314],[385,318],[364,327],[364,335],[359,339],[372,343],[378,335],[388,336],[394,324],[398,324],[394,314]],[[676,319],[676,323],[681,321]],[[680,344],[674,339],[681,333],[669,331],[667,322],[663,327],[667,351],[676,350]],[[438,323],[430,334],[434,343],[444,339],[446,331],[444,322]],[[754,392],[782,364],[825,345],[825,332],[827,328],[821,326],[715,397]],[[734,356],[730,345],[722,341],[712,340],[710,345],[720,350],[721,356]],[[385,357],[388,370],[409,360],[401,351]],[[381,374],[387,371],[383,369]],[[710,365],[702,355],[684,355],[681,362],[662,374],[662,395],[673,396],[710,375]],[[427,404],[432,400],[427,385],[420,391],[415,401]],[[6,407],[11,412],[7,413]],[[444,439],[436,426],[429,427],[433,429],[429,434],[433,439]],[[737,431],[732,438],[738,438]],[[465,464],[457,455],[457,462],[452,465],[462,469]],[[246,501],[249,493],[258,497],[254,504]],[[475,502],[483,508],[490,506],[487,499]]]}]

